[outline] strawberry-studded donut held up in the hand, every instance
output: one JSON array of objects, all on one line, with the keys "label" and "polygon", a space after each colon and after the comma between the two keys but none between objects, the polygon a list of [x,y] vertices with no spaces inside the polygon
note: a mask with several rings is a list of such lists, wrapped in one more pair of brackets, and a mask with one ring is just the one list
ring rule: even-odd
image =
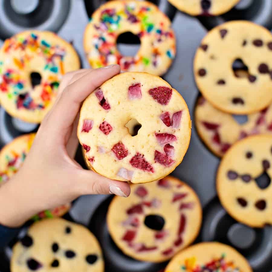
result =
[{"label": "strawberry-studded donut held up in the hand", "polygon": [[166,81],[127,72],[89,95],[77,132],[92,170],[110,179],[145,183],[180,164],[191,121],[182,96]]}]

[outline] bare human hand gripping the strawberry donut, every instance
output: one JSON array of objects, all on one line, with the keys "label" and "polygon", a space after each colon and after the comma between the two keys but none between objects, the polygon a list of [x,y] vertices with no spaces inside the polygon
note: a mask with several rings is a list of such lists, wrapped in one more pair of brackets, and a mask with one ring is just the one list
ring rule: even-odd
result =
[{"label": "bare human hand gripping the strawberry donut", "polygon": [[73,160],[78,139],[78,112],[84,99],[120,73],[113,65],[64,76],[53,108],[44,118],[20,171],[1,186],[0,223],[18,227],[36,213],[86,194],[128,196],[128,183],[83,170]]}]

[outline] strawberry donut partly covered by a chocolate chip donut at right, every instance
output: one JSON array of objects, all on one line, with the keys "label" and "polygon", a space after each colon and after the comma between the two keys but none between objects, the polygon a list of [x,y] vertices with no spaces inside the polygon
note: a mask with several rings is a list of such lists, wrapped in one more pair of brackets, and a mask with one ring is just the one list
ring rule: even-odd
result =
[{"label": "strawberry donut partly covered by a chocolate chip donut at right", "polygon": [[208,148],[219,157],[238,140],[272,133],[272,105],[247,118],[248,121],[240,125],[231,114],[214,108],[204,97],[198,99],[195,108],[196,129]]}]

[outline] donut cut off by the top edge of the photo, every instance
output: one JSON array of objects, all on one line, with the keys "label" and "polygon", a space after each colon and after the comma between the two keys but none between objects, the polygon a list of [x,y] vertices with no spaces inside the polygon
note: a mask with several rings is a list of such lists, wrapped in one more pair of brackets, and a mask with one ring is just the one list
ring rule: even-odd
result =
[{"label": "donut cut off by the top edge of the photo", "polygon": [[180,11],[190,15],[220,15],[233,8],[240,0],[168,0]]}]

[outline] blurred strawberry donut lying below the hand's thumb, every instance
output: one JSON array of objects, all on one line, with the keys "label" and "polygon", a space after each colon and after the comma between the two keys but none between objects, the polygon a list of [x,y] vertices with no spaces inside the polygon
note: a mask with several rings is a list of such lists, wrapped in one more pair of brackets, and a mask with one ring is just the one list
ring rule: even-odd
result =
[{"label": "blurred strawberry donut lying below the hand's thumb", "polygon": [[169,260],[192,243],[201,221],[196,193],[172,176],[133,184],[127,199],[113,198],[107,214],[115,244],[130,257],[150,262]]}]

